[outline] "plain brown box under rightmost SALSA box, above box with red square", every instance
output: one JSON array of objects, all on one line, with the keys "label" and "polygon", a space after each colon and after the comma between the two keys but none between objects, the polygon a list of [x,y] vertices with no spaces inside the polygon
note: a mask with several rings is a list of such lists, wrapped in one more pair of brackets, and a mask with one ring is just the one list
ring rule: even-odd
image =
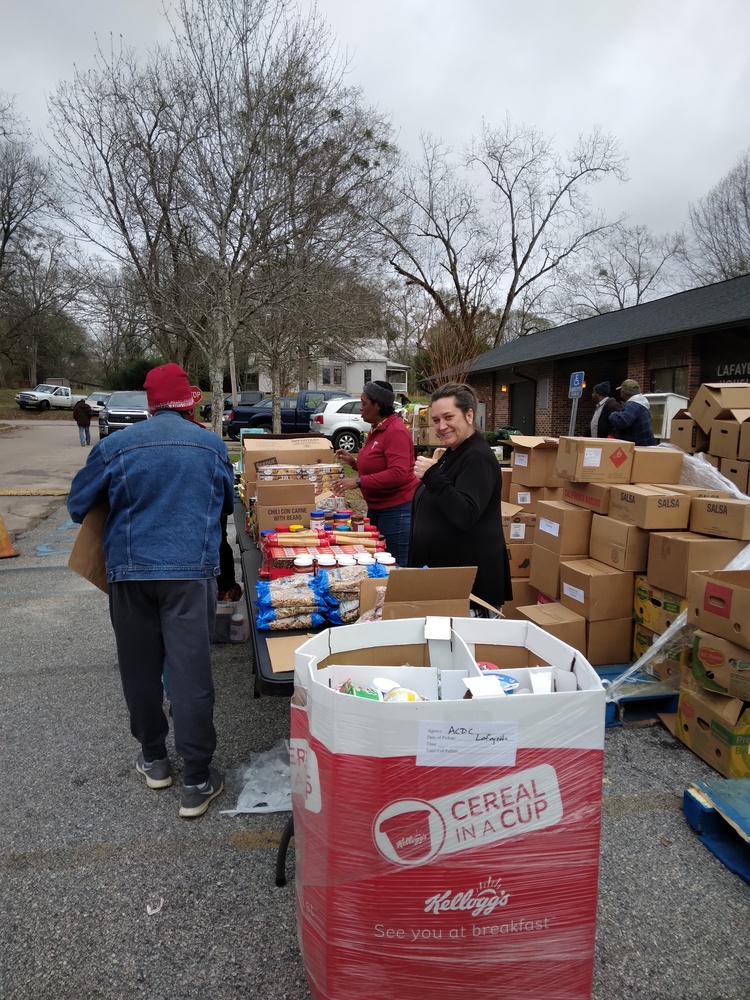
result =
[{"label": "plain brown box under rightmost SALSA box, above box with red square", "polygon": [[744,542],[735,539],[708,538],[692,531],[653,532],[648,548],[648,582],[687,597],[691,573],[724,569],[744,547]]}]

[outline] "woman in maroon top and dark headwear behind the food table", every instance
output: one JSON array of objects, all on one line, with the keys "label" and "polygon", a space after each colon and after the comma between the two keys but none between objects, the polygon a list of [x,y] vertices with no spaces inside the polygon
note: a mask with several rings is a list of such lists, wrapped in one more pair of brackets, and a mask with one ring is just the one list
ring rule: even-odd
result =
[{"label": "woman in maroon top and dark headwear behind the food table", "polygon": [[356,457],[339,450],[336,458],[357,470],[367,516],[384,536],[399,566],[406,566],[411,499],[419,481],[414,475],[414,442],[394,410],[395,399],[390,382],[368,382],[360,397],[360,413],[370,425],[370,433]]}]

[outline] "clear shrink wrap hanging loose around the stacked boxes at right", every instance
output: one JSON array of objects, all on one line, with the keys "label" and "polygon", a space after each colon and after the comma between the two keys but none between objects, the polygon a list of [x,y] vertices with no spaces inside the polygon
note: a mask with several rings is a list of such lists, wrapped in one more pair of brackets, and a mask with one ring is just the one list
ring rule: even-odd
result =
[{"label": "clear shrink wrap hanging loose around the stacked boxes at right", "polygon": [[[707,462],[700,452],[696,455],[683,456],[679,485],[700,486],[709,490],[725,490],[738,499],[748,499],[731,480],[722,476],[718,469]],[[742,552],[727,563],[724,569],[750,569],[750,545],[746,545]],[[639,657],[608,685],[607,701],[616,703],[625,694],[632,696],[638,693],[653,692],[654,685],[658,684],[657,681],[641,680],[635,675],[641,674],[649,664],[661,659],[667,651],[681,652],[685,649],[691,649],[694,635],[695,629],[692,625],[688,625],[687,611],[682,611],[666,632],[654,640],[653,645],[646,650],[643,656]],[[679,681],[679,677],[676,678],[676,681]],[[627,685],[627,690],[625,690],[625,685]]]}]

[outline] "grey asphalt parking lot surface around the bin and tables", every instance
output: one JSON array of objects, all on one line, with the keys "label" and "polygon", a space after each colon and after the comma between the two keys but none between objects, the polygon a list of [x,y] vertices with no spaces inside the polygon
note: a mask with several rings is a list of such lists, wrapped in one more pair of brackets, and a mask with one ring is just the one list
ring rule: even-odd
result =
[{"label": "grey asphalt parking lot surface around the bin and tables", "polygon": [[[0,560],[0,997],[307,1000],[293,881],[274,881],[286,814],[222,815],[226,792],[186,822],[179,781],[145,788],[106,598],[66,566],[76,530],[48,498]],[[251,670],[249,644],[215,647],[222,767],[288,735]],[[748,996],[750,886],[681,812],[712,777],[661,725],[607,730],[595,1000]]]}]

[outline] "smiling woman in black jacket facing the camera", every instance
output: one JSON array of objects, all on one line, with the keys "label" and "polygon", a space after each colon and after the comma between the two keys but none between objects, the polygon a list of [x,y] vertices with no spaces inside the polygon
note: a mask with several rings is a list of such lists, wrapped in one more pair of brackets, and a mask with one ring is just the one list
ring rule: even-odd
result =
[{"label": "smiling woman in black jacket facing the camera", "polygon": [[421,482],[412,502],[409,565],[476,566],[472,593],[499,610],[512,597],[500,466],[474,426],[477,399],[469,386],[449,382],[430,402],[445,451],[437,459],[420,456],[414,465]]}]

